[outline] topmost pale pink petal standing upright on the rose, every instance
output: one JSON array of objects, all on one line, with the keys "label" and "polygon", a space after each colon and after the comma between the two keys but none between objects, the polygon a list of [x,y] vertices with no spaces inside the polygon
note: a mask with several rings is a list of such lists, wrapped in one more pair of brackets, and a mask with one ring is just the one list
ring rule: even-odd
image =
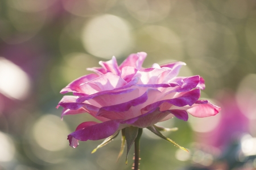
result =
[{"label": "topmost pale pink petal standing upright on the rose", "polygon": [[134,67],[136,69],[141,69],[144,59],[146,58],[147,53],[145,52],[138,52],[133,53],[123,61],[123,63],[119,66],[119,68],[122,70],[123,67],[130,66]]}]

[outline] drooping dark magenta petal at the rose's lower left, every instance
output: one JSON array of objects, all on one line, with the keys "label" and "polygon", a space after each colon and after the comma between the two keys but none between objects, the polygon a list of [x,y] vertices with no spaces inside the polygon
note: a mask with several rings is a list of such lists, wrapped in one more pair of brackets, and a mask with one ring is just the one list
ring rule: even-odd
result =
[{"label": "drooping dark magenta petal at the rose's lower left", "polygon": [[118,130],[120,122],[122,122],[121,119],[103,123],[84,122],[82,125],[80,124],[81,127],[78,130],[68,135],[69,144],[71,147],[76,147],[75,139],[86,141],[108,138]]}]

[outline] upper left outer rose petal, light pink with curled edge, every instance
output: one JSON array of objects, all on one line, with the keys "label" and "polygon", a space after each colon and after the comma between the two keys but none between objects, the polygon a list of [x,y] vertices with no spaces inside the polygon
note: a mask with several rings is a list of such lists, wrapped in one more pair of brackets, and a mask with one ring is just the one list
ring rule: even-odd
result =
[{"label": "upper left outer rose petal, light pink with curled edge", "polygon": [[86,76],[82,76],[77,78],[76,80],[72,81],[71,83],[69,83],[65,88],[63,88],[60,93],[64,94],[64,93],[68,93],[68,92],[81,92],[80,89],[80,84],[88,82],[90,80],[93,80],[94,78],[97,78],[97,74],[88,74]]}]

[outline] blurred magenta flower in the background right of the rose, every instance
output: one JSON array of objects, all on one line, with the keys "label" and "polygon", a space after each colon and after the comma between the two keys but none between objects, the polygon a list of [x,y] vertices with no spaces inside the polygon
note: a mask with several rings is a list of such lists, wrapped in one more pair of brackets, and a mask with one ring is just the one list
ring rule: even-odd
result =
[{"label": "blurred magenta flower in the background right of the rose", "polygon": [[199,142],[224,150],[230,143],[249,132],[248,119],[238,107],[234,93],[224,89],[217,94],[221,103],[220,122],[214,130],[198,135]]}]

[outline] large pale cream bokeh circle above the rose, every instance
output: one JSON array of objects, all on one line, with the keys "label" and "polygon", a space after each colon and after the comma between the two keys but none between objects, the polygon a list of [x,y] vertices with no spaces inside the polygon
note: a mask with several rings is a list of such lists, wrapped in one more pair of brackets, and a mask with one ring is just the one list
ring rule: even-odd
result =
[{"label": "large pale cream bokeh circle above the rose", "polygon": [[82,30],[82,43],[94,56],[110,59],[120,57],[133,46],[130,25],[125,19],[105,14],[86,23]]}]

